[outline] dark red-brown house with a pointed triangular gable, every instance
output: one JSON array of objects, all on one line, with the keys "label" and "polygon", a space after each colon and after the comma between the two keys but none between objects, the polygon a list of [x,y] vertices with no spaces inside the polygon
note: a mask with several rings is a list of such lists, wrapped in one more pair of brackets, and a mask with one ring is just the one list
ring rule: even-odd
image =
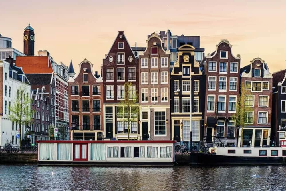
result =
[{"label": "dark red-brown house with a pointed triangular gable", "polygon": [[[126,82],[132,83],[128,87],[131,95],[138,94],[138,58],[124,35],[118,31],[108,54],[103,59],[103,125],[104,137],[110,139],[128,139],[128,123],[122,115],[120,102],[125,99]],[[129,97],[128,99],[136,99]],[[120,107],[120,108],[119,108]],[[126,108],[127,109],[127,108]],[[131,109],[131,108],[129,108]],[[124,112],[124,111],[123,111]],[[130,139],[139,139],[138,117],[134,116],[131,124]]]}]

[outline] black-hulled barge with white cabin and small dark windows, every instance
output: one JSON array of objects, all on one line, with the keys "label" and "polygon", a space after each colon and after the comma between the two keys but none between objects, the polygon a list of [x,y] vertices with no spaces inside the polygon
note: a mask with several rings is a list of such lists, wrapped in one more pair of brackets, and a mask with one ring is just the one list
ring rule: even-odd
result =
[{"label": "black-hulled barge with white cabin and small dark windows", "polygon": [[286,141],[281,147],[211,147],[208,153],[192,153],[190,165],[286,164]]}]

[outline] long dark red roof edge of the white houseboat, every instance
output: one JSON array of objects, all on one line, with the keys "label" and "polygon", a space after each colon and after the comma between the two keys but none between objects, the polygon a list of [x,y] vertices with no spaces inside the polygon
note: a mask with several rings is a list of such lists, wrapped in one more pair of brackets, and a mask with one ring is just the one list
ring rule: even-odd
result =
[{"label": "long dark red roof edge of the white houseboat", "polygon": [[71,140],[38,140],[37,143],[176,143],[177,141],[71,141]]}]

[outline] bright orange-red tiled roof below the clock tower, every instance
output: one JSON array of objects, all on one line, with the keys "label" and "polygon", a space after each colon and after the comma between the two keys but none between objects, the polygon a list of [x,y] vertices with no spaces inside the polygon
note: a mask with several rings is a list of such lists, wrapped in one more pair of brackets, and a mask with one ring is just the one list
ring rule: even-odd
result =
[{"label": "bright orange-red tiled roof below the clock tower", "polygon": [[22,67],[25,74],[53,73],[53,68],[48,56],[17,56],[16,66]]}]

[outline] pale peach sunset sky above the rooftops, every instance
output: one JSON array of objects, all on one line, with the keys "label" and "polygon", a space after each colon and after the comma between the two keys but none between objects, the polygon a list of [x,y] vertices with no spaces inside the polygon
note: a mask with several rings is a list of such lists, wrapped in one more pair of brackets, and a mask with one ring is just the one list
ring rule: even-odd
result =
[{"label": "pale peach sunset sky above the rooftops", "polygon": [[131,46],[146,46],[147,35],[170,29],[173,35],[200,36],[205,55],[221,39],[241,55],[241,67],[260,57],[270,72],[286,68],[286,1],[280,0],[0,0],[0,34],[23,52],[23,29],[35,32],[35,54],[48,50],[75,72],[85,58],[100,71],[119,30]]}]

